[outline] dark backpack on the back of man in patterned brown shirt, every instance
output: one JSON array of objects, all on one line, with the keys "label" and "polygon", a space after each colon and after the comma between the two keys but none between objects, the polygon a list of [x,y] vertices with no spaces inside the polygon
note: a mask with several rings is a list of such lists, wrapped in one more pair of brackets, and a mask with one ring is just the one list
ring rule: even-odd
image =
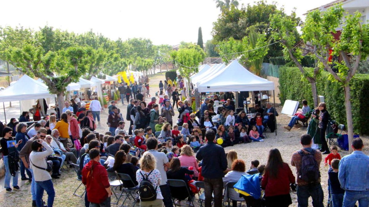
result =
[{"label": "dark backpack on the back of man in patterned brown shirt", "polygon": [[318,182],[320,178],[319,167],[314,158],[315,152],[316,150],[314,149],[308,153],[299,150],[299,154],[301,155],[300,178],[309,183]]}]

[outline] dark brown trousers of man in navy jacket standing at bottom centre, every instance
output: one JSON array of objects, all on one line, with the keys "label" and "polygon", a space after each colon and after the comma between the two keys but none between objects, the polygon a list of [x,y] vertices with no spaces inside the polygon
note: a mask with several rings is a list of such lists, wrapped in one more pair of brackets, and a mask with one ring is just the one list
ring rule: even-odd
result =
[{"label": "dark brown trousers of man in navy jacket standing at bottom centre", "polygon": [[223,179],[204,178],[205,191],[205,207],[211,207],[211,199],[214,192],[214,207],[222,206]]}]

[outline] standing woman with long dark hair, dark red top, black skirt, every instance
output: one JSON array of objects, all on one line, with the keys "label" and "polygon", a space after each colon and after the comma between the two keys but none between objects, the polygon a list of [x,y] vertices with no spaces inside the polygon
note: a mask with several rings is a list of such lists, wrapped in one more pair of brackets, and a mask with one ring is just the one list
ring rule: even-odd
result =
[{"label": "standing woman with long dark hair, dark red top, black skirt", "polygon": [[261,181],[261,187],[265,189],[266,207],[273,207],[276,204],[287,207],[292,204],[290,183],[295,183],[295,176],[290,167],[283,162],[278,149],[270,150]]}]

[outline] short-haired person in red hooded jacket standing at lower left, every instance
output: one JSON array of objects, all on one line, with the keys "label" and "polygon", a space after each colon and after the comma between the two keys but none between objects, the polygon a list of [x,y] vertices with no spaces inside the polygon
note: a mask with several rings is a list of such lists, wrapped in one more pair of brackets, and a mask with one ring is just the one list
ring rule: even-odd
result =
[{"label": "short-haired person in red hooded jacket standing at lower left", "polygon": [[100,150],[91,149],[89,157],[90,161],[82,170],[82,183],[86,186],[90,206],[110,207],[111,189],[108,173],[105,167],[100,164]]}]

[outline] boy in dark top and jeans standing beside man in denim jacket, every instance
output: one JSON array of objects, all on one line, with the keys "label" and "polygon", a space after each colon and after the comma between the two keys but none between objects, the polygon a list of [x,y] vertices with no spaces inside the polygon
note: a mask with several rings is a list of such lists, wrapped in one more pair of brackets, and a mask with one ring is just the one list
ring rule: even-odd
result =
[{"label": "boy in dark top and jeans standing beside man in denim jacket", "polygon": [[328,170],[328,183],[330,186],[331,201],[333,206],[342,206],[345,190],[341,188],[338,180],[339,159],[332,159],[331,168]]}]

